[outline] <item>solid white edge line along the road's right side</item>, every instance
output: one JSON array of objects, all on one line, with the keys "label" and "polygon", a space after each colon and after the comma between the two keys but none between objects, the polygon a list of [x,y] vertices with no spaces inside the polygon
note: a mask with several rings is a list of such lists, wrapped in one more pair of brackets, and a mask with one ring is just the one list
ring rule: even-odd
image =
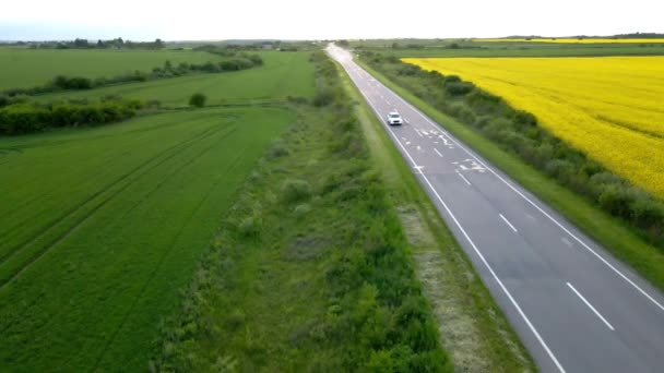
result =
[{"label": "solid white edge line along the road's right side", "polygon": [[[381,84],[382,85],[382,84]],[[408,104],[405,99],[403,99],[401,96],[396,95],[395,93],[393,93],[391,89],[387,88],[384,85],[382,85],[382,88],[387,89],[387,92],[390,92],[394,97],[396,97],[398,99],[400,99],[407,108],[410,108],[411,110],[415,111],[417,115],[419,115],[427,123],[429,123],[432,128],[436,129],[440,129],[436,123],[434,123],[427,116],[425,116],[422,111],[419,111],[419,109],[415,108],[412,104]],[[529,204],[531,204],[533,207],[535,207],[540,213],[542,213],[544,216],[546,216],[549,220],[552,220],[556,226],[558,226],[558,228],[560,228],[564,232],[566,232],[569,237],[571,237],[572,239],[574,239],[574,241],[579,242],[585,250],[590,251],[595,257],[597,257],[602,263],[604,263],[608,268],[610,268],[615,274],[617,274],[619,277],[621,277],[625,281],[627,281],[629,285],[631,285],[637,291],[639,291],[643,297],[648,298],[648,300],[650,300],[652,303],[654,303],[660,310],[664,311],[664,305],[662,305],[660,302],[657,302],[654,298],[652,298],[652,296],[650,296],[645,290],[643,290],[640,286],[638,286],[635,281],[632,281],[631,279],[629,279],[629,277],[625,276],[625,274],[622,274],[618,268],[616,268],[613,264],[608,263],[607,260],[605,260],[602,255],[600,255],[596,251],[594,251],[591,246],[589,246],[585,242],[583,242],[580,238],[578,238],[574,233],[572,233],[569,229],[565,228],[565,226],[562,224],[560,224],[558,220],[556,220],[556,218],[554,218],[553,216],[550,216],[548,213],[546,213],[542,207],[540,207],[536,203],[534,203],[533,201],[531,201],[527,196],[525,196],[523,193],[521,193],[521,191],[519,191],[517,188],[514,188],[511,183],[509,183],[507,180],[505,180],[500,175],[498,175],[498,172],[496,172],[493,168],[486,166],[486,164],[484,164],[482,160],[479,160],[479,157],[477,155],[475,155],[474,153],[472,153],[471,151],[469,151],[467,148],[465,148],[465,146],[462,146],[458,141],[455,141],[452,136],[449,136],[450,140],[456,144],[459,147],[461,147],[466,154],[469,154],[470,156],[474,157],[475,160],[482,165],[484,168],[486,168],[487,170],[489,170],[491,173],[494,173],[500,181],[502,181],[506,185],[508,185],[514,193],[519,194],[523,200],[525,200]]]}]

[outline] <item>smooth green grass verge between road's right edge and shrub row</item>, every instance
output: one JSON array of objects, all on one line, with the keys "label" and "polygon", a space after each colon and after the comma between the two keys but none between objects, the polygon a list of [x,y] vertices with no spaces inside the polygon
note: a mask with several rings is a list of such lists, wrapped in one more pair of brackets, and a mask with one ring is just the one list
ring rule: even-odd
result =
[{"label": "smooth green grass verge between road's right edge and shrub row", "polygon": [[560,212],[577,227],[607,248],[616,257],[631,265],[655,287],[664,289],[664,255],[645,243],[630,228],[617,218],[610,217],[585,198],[557,184],[538,170],[525,165],[484,137],[475,130],[441,113],[430,105],[413,95],[407,89],[390,81],[380,72],[357,61],[364,69],[379,79],[383,84],[419,108],[427,116],[443,123],[444,128],[491,164],[508,173],[521,185],[537,195],[545,203]]}]

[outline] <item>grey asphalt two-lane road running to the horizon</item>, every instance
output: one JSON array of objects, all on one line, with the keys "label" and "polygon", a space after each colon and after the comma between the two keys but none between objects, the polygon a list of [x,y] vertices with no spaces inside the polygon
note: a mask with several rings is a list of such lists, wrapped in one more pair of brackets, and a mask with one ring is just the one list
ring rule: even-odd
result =
[{"label": "grey asphalt two-lane road running to the horizon", "polygon": [[335,46],[543,372],[664,372],[664,297]]}]

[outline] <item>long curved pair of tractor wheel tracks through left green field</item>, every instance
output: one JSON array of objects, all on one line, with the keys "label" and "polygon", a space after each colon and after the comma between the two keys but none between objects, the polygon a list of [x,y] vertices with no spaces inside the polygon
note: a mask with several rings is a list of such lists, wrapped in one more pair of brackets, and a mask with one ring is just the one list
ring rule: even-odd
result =
[{"label": "long curved pair of tractor wheel tracks through left green field", "polygon": [[88,207],[91,205],[91,202],[97,200],[98,197],[103,197],[103,195],[107,191],[111,190],[116,185],[120,185],[122,181],[126,181],[126,180],[131,179],[133,177],[132,180],[129,180],[124,185],[121,185],[115,192],[111,192],[109,196],[107,196],[106,198],[104,198],[103,201],[100,201],[96,206],[92,207],[90,212],[87,212],[86,214],[84,213],[84,216],[82,216],[81,218],[79,218],[78,221],[74,221],[73,225],[69,229],[64,230],[64,232],[61,232],[60,234],[57,234],[57,237],[54,238],[52,240],[50,240],[50,242],[46,242],[46,244],[45,244],[44,248],[42,248],[40,250],[37,250],[36,253],[34,253],[33,255],[31,255],[31,257],[28,257],[27,260],[25,260],[23,263],[20,263],[14,270],[11,270],[11,268],[9,268],[10,269],[10,274],[9,275],[5,275],[5,276],[1,276],[1,276],[0,277],[0,289],[3,289],[8,284],[11,284],[26,268],[28,268],[33,263],[35,263],[36,261],[38,261],[39,257],[42,257],[44,254],[46,254],[47,252],[49,252],[54,246],[56,246],[58,243],[60,243],[62,240],[64,240],[67,237],[69,237],[69,234],[76,227],[81,226],[97,209],[99,209],[108,201],[110,201],[112,197],[115,197],[121,191],[123,191],[129,185],[131,185],[133,182],[135,182],[141,176],[143,176],[146,172],[153,170],[154,168],[161,166],[162,164],[164,164],[165,161],[169,160],[170,158],[177,156],[179,154],[179,151],[181,148],[185,148],[185,147],[187,147],[187,146],[189,146],[189,145],[191,145],[193,143],[197,143],[197,142],[199,142],[199,141],[201,141],[201,140],[210,136],[210,135],[214,135],[215,133],[220,132],[223,129],[229,130],[228,133],[230,133],[230,132],[233,132],[233,130],[235,129],[235,127],[234,125],[224,125],[224,127],[212,127],[212,128],[205,129],[205,130],[199,132],[198,134],[193,135],[189,140],[186,140],[186,141],[183,141],[183,142],[181,142],[181,143],[179,143],[177,145],[174,145],[174,146],[171,146],[171,147],[169,147],[169,148],[167,148],[167,149],[158,153],[156,156],[151,157],[150,159],[145,160],[141,165],[134,167],[129,172],[122,175],[120,178],[118,178],[114,182],[107,184],[105,188],[103,188],[102,190],[99,190],[96,193],[94,193],[91,197],[86,198],[81,204],[74,206],[66,215],[63,215],[59,219],[55,220],[52,224],[50,224],[48,227],[46,227],[40,233],[38,233],[36,237],[34,237],[28,242],[15,246],[11,251],[11,253],[9,253],[8,255],[5,255],[4,257],[2,257],[0,260],[0,270],[2,269],[3,266],[5,266],[5,264],[9,263],[9,261],[11,261],[12,257],[14,257],[15,255],[17,255],[21,252],[23,252],[25,248],[27,248],[31,244],[37,242],[40,238],[45,237],[52,229],[57,229],[57,227],[60,226],[60,222],[62,222],[62,221],[67,220],[68,218],[74,216],[76,213],[81,212],[85,207]]}]

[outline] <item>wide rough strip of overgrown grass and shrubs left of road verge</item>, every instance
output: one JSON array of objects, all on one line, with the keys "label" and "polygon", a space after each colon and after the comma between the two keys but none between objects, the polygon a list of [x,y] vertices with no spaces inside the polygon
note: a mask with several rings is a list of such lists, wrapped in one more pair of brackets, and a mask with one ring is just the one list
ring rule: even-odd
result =
[{"label": "wide rough strip of overgrown grass and shrubs left of road verge", "polygon": [[407,241],[322,53],[164,327],[158,371],[451,371]]}]

